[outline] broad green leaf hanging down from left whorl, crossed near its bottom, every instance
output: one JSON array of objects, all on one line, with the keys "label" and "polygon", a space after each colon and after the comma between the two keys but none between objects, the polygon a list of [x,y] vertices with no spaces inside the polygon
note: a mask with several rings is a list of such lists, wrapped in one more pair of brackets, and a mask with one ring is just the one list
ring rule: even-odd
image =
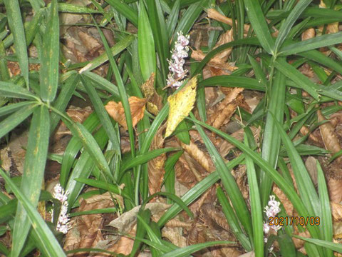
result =
[{"label": "broad green leaf hanging down from left whorl, crossed near its bottom", "polygon": [[[35,208],[41,194],[46,158],[48,154],[48,138],[50,136],[50,116],[46,106],[40,106],[33,113],[28,146],[24,163],[24,175],[21,179],[21,193],[27,196]],[[19,199],[14,222],[13,243],[11,256],[19,256],[31,227],[28,222],[27,207]],[[38,234],[38,236],[41,236]]]}]

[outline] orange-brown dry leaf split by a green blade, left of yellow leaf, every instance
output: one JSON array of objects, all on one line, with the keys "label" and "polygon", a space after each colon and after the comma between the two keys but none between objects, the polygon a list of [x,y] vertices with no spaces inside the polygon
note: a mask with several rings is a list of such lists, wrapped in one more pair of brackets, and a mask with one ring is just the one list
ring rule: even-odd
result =
[{"label": "orange-brown dry leaf split by a green blade, left of yellow leaf", "polygon": [[[130,96],[128,102],[130,104],[130,114],[132,114],[133,126],[135,126],[144,117],[146,99]],[[121,102],[115,103],[115,101],[109,101],[108,104],[105,105],[105,109],[114,121],[117,121],[125,130],[128,129],[125,111]]]}]

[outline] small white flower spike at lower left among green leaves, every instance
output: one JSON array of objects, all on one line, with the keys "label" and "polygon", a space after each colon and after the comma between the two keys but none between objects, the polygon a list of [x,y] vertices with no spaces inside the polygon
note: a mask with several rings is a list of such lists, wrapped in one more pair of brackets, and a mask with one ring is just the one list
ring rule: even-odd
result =
[{"label": "small white flower spike at lower left among green leaves", "polygon": [[69,218],[68,218],[68,191],[64,191],[61,187],[61,184],[56,184],[53,188],[53,198],[56,198],[58,201],[61,202],[61,212],[58,216],[58,222],[56,230],[60,231],[61,233],[68,233],[69,229]]}]

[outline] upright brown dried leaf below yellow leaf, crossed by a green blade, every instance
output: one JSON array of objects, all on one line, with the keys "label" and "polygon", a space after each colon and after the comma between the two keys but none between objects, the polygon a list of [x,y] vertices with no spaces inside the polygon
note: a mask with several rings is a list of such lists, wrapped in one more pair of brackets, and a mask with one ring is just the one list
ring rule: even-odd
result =
[{"label": "upright brown dried leaf below yellow leaf, crossed by a green blade", "polygon": [[[162,132],[165,130],[165,125],[158,129],[155,137],[152,140],[150,151],[160,149],[164,147],[164,138]],[[148,191],[150,195],[160,192],[162,186],[162,180],[164,178],[165,169],[164,164],[166,161],[166,153],[162,153],[160,156],[152,159],[147,163],[148,167]]]}]

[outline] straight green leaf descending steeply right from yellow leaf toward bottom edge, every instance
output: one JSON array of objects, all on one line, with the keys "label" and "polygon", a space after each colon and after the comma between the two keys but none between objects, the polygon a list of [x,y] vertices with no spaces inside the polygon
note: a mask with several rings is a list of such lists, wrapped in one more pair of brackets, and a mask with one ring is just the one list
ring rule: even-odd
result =
[{"label": "straight green leaf descending steeply right from yellow leaf toward bottom edge", "polygon": [[[192,118],[195,118],[195,116],[193,116],[193,114],[191,113],[190,116]],[[234,206],[235,212],[237,213],[237,217],[239,218],[239,221],[242,223],[242,226],[244,226],[244,229],[247,231],[249,239],[252,241],[252,219],[248,211],[247,205],[244,201],[244,197],[242,196],[242,193],[239,190],[239,187],[237,186],[237,183],[234,177],[232,176],[232,173],[230,173],[230,171],[227,169],[227,166],[225,165],[222,156],[217,151],[217,148],[215,148],[212,141],[209,140],[207,134],[204,132],[202,127],[198,124],[195,125],[197,131],[199,132],[199,135],[202,137],[204,144],[207,147],[207,150],[209,151],[209,154],[212,158],[212,162],[217,168],[217,173],[219,173],[219,177],[221,178],[224,188],[226,189],[229,195],[230,201],[232,201],[232,205]]]}]

